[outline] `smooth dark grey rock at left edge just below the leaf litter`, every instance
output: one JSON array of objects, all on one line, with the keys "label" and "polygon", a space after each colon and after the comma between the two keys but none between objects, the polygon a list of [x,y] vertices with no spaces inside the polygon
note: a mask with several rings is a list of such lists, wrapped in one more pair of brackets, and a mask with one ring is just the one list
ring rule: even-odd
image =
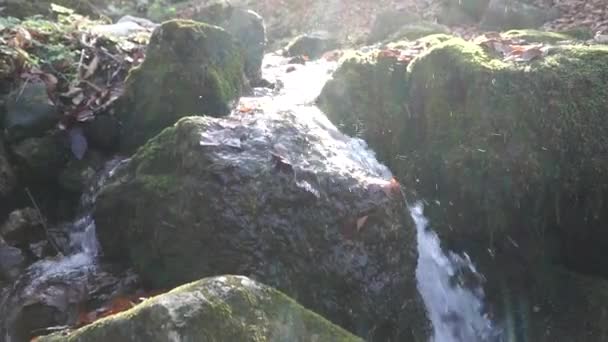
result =
[{"label": "smooth dark grey rock at left edge just below the leaf litter", "polygon": [[6,101],[4,129],[8,141],[41,136],[59,121],[42,82],[26,83]]}]

